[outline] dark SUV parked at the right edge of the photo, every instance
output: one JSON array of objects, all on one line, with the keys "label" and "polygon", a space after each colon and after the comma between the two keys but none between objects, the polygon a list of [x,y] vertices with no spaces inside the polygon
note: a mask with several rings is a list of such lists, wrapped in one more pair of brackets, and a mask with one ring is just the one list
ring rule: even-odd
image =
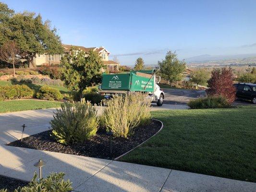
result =
[{"label": "dark SUV parked at the right edge of the photo", "polygon": [[251,100],[256,104],[256,84],[239,83],[234,84],[236,87],[236,97]]}]

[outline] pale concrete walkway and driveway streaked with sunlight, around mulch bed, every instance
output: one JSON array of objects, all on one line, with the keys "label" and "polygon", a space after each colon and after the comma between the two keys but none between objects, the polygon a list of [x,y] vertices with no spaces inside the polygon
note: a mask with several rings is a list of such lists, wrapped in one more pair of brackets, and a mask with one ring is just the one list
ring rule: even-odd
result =
[{"label": "pale concrete walkway and driveway streaked with sunlight, around mulch bed", "polygon": [[31,180],[41,158],[49,172],[65,172],[76,192],[254,192],[256,183],[125,162],[6,146],[48,130],[53,109],[0,114],[0,175]]}]

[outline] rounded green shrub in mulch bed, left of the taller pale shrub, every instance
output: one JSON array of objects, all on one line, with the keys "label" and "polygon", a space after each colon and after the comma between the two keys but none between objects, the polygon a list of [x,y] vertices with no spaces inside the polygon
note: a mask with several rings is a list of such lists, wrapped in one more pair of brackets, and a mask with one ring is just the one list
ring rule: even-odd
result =
[{"label": "rounded green shrub in mulch bed, left of the taller pale shrub", "polygon": [[91,103],[63,103],[50,121],[52,135],[62,144],[82,143],[94,136],[99,122]]}]

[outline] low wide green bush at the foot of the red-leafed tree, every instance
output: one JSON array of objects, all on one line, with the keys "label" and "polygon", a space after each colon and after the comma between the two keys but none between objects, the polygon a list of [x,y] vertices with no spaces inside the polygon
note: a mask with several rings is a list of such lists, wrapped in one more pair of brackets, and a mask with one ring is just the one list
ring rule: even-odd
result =
[{"label": "low wide green bush at the foot of the red-leafed tree", "polygon": [[190,108],[231,108],[228,100],[223,96],[207,96],[190,100],[187,104]]}]

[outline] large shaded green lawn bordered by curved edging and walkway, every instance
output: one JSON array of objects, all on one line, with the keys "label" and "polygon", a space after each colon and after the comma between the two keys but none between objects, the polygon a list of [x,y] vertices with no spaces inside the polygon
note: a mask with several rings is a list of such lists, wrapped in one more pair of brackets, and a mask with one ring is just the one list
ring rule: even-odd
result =
[{"label": "large shaded green lawn bordered by curved edging and walkway", "polygon": [[256,182],[256,107],[153,111],[164,128],[120,160]]}]

